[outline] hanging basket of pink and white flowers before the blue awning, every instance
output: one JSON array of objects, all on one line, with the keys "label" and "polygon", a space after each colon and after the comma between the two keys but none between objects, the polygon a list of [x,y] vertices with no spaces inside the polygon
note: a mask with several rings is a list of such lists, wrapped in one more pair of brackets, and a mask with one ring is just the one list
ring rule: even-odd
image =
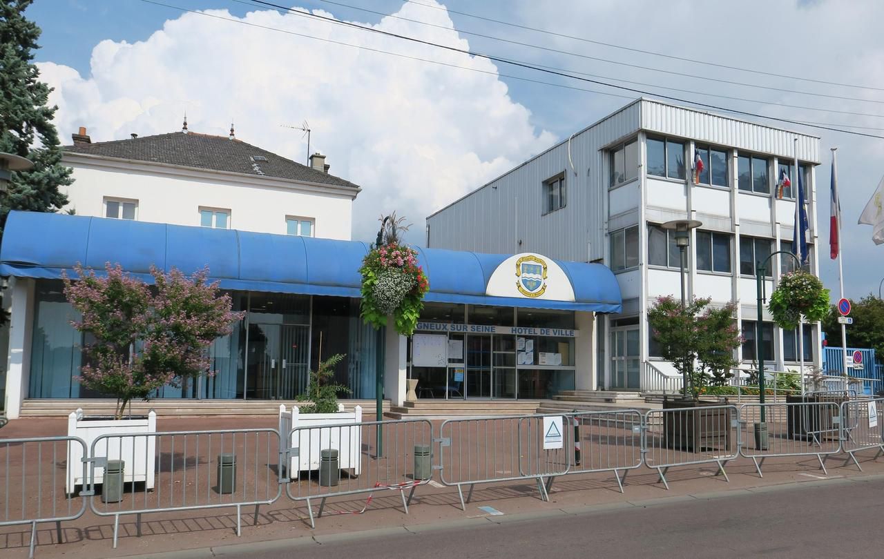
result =
[{"label": "hanging basket of pink and white flowers before the blue awning", "polygon": [[395,242],[376,246],[362,261],[362,319],[375,328],[396,321],[396,331],[411,336],[430,283],[417,265],[417,253]]}]

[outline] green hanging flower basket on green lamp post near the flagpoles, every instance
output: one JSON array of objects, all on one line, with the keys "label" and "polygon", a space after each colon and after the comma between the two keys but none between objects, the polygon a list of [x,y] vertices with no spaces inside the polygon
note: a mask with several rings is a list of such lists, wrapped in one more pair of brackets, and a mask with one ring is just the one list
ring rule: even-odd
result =
[{"label": "green hanging flower basket on green lamp post near the flagpoles", "polygon": [[798,328],[801,315],[808,322],[823,320],[829,312],[829,291],[819,277],[796,270],[784,274],[773,290],[767,306],[773,321],[784,330]]}]

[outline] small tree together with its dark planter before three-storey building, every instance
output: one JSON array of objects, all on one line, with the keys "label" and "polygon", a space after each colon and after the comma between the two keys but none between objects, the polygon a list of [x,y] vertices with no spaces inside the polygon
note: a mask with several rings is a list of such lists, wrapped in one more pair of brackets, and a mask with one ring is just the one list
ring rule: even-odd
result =
[{"label": "small tree together with its dark planter before three-storey building", "polygon": [[[664,359],[687,381],[688,399],[665,400],[664,409],[697,408],[699,395],[709,383],[723,385],[733,376],[734,351],[742,337],[736,329],[736,306],[709,306],[710,298],[697,298],[682,307],[673,297],[661,297],[648,311],[648,322]],[[699,416],[697,415],[699,414]],[[677,417],[676,417],[677,416]],[[730,412],[697,410],[664,415],[667,445],[699,450],[730,445]]]}]

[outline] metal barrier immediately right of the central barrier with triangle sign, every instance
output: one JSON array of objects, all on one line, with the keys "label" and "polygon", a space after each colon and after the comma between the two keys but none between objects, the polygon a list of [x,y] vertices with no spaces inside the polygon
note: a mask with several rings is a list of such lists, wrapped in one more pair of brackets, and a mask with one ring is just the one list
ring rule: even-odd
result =
[{"label": "metal barrier immediately right of the central barrier with triangle sign", "polygon": [[627,473],[642,466],[641,412],[573,412],[565,417],[575,429],[568,473],[613,472],[623,493]]}]

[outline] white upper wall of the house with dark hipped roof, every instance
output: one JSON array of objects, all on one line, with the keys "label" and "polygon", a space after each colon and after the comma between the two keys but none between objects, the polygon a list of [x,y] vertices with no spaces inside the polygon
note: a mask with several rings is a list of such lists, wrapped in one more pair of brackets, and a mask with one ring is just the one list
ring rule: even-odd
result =
[{"label": "white upper wall of the house with dark hipped roof", "polygon": [[107,202],[135,202],[143,222],[200,225],[201,210],[229,215],[227,229],[284,235],[286,219],[312,224],[310,235],[349,240],[358,190],[284,178],[202,170],[67,152],[77,215],[107,216]]}]

